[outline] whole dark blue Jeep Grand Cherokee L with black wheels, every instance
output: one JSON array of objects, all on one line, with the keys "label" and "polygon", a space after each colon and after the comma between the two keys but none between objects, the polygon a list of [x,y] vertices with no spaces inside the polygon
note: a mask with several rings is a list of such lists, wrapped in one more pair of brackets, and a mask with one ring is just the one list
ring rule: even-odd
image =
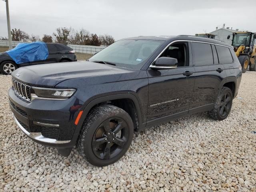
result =
[{"label": "whole dark blue Jeep Grand Cherokee L with black wheels", "polygon": [[126,153],[134,131],[205,111],[224,120],[241,77],[224,42],[140,36],[89,61],[19,68],[8,93],[24,134],[64,156],[76,146],[88,162],[105,166]]}]

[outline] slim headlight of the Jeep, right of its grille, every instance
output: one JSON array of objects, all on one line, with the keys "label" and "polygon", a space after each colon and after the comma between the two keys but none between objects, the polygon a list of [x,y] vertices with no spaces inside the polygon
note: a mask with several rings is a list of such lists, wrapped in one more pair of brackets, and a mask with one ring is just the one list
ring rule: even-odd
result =
[{"label": "slim headlight of the Jeep, right of its grille", "polygon": [[76,89],[52,89],[32,87],[31,99],[65,100],[70,98]]}]

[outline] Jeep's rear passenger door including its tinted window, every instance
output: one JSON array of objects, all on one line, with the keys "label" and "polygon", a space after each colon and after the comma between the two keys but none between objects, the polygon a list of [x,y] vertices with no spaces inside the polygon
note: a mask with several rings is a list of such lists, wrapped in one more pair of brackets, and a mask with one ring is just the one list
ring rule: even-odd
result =
[{"label": "Jeep's rear passenger door including its tinted window", "polygon": [[213,44],[191,42],[195,85],[189,112],[212,109],[219,92],[221,82],[226,78],[222,64]]}]

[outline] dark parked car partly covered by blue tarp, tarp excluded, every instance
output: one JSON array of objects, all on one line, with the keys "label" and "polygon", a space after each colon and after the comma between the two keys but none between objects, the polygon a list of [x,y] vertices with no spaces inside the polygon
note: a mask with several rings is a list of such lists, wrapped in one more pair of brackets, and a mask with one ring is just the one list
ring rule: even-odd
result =
[{"label": "dark parked car partly covered by blue tarp, tarp excluded", "polygon": [[10,75],[17,68],[24,66],[77,61],[76,54],[72,48],[60,43],[46,43],[46,45],[49,54],[46,60],[37,60],[33,62],[16,64],[16,62],[9,56],[7,52],[0,53],[0,72],[5,75]]}]

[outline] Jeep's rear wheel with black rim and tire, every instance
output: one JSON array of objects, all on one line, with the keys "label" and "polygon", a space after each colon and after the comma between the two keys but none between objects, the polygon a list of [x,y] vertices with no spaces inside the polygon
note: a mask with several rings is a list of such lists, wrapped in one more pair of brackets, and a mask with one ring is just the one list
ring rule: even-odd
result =
[{"label": "Jeep's rear wheel with black rim and tire", "polygon": [[228,87],[222,87],[209,115],[214,120],[222,121],[228,117],[232,108],[233,93]]}]

